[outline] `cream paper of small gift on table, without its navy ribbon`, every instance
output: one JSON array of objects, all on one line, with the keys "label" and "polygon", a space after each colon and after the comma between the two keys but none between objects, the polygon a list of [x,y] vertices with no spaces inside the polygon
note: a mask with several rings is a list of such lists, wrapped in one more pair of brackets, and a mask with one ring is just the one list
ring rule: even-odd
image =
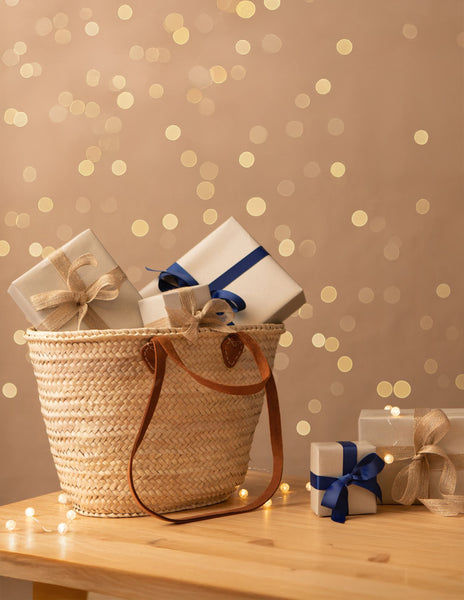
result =
[{"label": "cream paper of small gift on table, without its navy ribbon", "polygon": [[[358,463],[375,452],[375,446],[365,441],[352,442],[356,445]],[[311,443],[311,473],[317,476],[339,478],[343,473],[343,446],[339,442]],[[320,517],[329,517],[332,509],[322,506],[325,490],[311,487],[311,508]],[[375,494],[357,485],[348,486],[348,514],[361,515],[377,512]]]}]

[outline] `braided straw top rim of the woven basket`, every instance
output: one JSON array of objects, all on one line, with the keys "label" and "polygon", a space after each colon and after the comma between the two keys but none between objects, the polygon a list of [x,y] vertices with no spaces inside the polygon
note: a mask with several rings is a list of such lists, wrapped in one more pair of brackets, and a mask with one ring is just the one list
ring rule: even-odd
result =
[{"label": "braided straw top rim of the woven basket", "polygon": [[[257,325],[234,325],[230,327],[230,332],[234,331],[285,331],[283,323],[261,323]],[[200,327],[199,333],[224,335],[224,331],[217,331],[209,327]],[[28,342],[49,340],[57,342],[76,342],[76,341],[102,341],[107,339],[122,338],[150,338],[155,335],[168,335],[170,337],[183,337],[184,329],[182,327],[151,328],[138,327],[135,329],[82,329],[79,331],[38,331],[29,327],[24,334],[24,339]]]}]

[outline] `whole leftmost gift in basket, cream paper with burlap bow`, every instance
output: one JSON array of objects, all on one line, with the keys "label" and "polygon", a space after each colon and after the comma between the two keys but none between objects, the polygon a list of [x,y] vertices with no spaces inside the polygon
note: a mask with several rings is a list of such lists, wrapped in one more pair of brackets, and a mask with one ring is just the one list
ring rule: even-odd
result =
[{"label": "whole leftmost gift in basket, cream paper with burlap bow", "polygon": [[40,330],[142,326],[139,293],[90,229],[18,277],[8,293]]}]

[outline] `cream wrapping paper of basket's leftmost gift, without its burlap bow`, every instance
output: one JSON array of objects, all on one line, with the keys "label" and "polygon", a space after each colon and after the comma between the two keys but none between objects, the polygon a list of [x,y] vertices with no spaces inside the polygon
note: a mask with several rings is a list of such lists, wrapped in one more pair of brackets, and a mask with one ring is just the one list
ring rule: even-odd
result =
[{"label": "cream wrapping paper of basket's leftmost gift, without its burlap bow", "polygon": [[[129,282],[124,273],[119,269],[116,262],[108,254],[96,235],[87,229],[67,242],[50,257],[43,259],[29,271],[18,277],[8,288],[8,293],[25,314],[27,320],[37,329],[48,329],[44,319],[49,318],[56,310],[45,308],[36,310],[31,297],[44,292],[55,290],[68,290],[66,283],[66,271],[69,264],[79,257],[90,253],[95,257],[97,265],[84,265],[76,270],[85,288],[89,288],[101,276],[113,272],[116,278],[122,280],[119,294],[113,300],[94,299],[89,302],[87,321],[92,323],[92,313],[97,315],[94,319],[99,323],[97,328],[108,329],[131,329],[142,326],[142,318],[138,301],[140,295]],[[57,260],[64,263],[60,274],[58,267],[53,264]],[[90,310],[90,308],[92,310]],[[64,325],[58,327],[59,331],[72,331],[78,328],[78,316],[74,315]],[[86,323],[86,317],[80,325],[80,329],[90,329]]]}]

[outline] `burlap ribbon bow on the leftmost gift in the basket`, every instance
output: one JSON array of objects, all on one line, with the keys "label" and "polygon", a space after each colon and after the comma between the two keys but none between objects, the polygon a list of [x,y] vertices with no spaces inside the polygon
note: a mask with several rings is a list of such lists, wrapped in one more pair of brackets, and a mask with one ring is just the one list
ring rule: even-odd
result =
[{"label": "burlap ribbon bow on the leftmost gift in the basket", "polygon": [[126,278],[119,267],[101,275],[88,287],[77,274],[78,269],[85,266],[97,266],[93,254],[82,254],[72,262],[62,250],[56,250],[48,259],[66,282],[67,289],[41,292],[30,297],[35,310],[54,308],[38,325],[37,329],[56,331],[66,325],[77,315],[77,329],[84,320],[91,329],[108,329],[108,325],[97,315],[89,304],[93,300],[114,300]]}]

